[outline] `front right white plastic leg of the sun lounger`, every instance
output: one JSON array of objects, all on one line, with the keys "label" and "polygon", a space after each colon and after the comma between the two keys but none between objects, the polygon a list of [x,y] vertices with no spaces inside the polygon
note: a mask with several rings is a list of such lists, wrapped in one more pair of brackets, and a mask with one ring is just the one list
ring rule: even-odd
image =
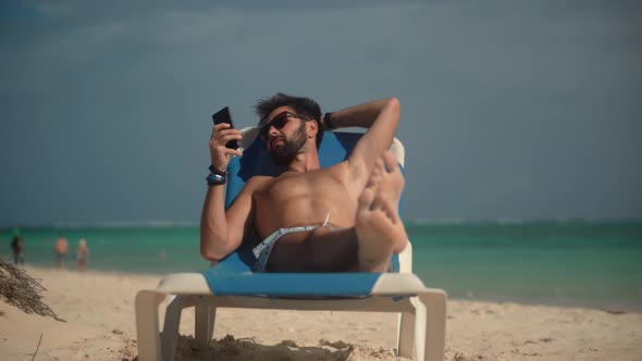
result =
[{"label": "front right white plastic leg of the sun lounger", "polygon": [[432,290],[415,304],[415,344],[418,361],[443,361],[446,346],[446,294]]}]

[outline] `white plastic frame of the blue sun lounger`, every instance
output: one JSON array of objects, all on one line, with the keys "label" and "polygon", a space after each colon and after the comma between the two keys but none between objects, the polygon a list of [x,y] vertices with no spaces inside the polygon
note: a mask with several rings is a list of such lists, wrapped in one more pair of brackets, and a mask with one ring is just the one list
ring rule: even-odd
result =
[{"label": "white plastic frame of the blue sun lounger", "polygon": [[[395,139],[392,149],[399,163],[404,164],[404,148],[398,140]],[[195,307],[195,338],[201,348],[207,347],[212,338],[217,308],[397,312],[398,356],[412,358],[412,349],[416,349],[419,361],[442,361],[446,294],[441,289],[427,288],[411,270],[412,246],[408,242],[399,253],[399,273],[381,274],[369,297],[332,300],[217,296],[212,295],[200,273],[170,274],[156,289],[140,290],[136,295],[138,360],[174,360],[182,310]],[[177,296],[168,306],[161,340],[159,306],[168,295]],[[408,297],[399,299],[398,296]]]}]

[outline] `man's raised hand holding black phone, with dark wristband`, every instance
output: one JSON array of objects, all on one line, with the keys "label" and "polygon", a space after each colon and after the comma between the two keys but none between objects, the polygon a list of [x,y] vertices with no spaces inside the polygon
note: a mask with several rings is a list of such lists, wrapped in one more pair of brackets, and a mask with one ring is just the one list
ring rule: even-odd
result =
[{"label": "man's raised hand holding black phone, with dark wristband", "polygon": [[234,127],[229,107],[215,112],[212,120],[214,127],[210,137],[211,174],[207,180],[209,185],[220,185],[225,184],[225,170],[230,155],[243,155],[243,152],[238,150],[242,136],[240,132]]}]

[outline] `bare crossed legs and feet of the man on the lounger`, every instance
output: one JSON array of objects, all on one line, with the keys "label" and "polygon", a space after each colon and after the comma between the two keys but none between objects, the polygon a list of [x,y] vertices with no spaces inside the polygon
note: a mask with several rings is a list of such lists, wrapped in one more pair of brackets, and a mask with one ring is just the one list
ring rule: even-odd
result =
[{"label": "bare crossed legs and feet of the man on the lounger", "polygon": [[404,183],[396,158],[385,152],[359,196],[355,227],[319,227],[303,240],[285,236],[272,249],[268,271],[387,271],[408,241],[398,212]]}]

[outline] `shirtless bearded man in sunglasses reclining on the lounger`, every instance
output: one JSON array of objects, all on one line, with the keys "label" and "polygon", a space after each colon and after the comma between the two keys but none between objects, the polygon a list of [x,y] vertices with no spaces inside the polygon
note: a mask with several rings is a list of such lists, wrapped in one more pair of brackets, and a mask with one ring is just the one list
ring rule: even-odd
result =
[{"label": "shirtless bearded man in sunglasses reclining on the lounger", "polygon": [[[227,124],[213,127],[201,256],[221,260],[246,239],[259,272],[386,271],[392,254],[407,242],[398,214],[404,178],[387,150],[399,122],[398,100],[321,116],[313,100],[277,94],[259,101],[256,110],[268,152],[284,172],[251,177],[225,211],[224,171],[230,155],[242,154],[225,145],[242,136]],[[368,130],[348,160],[321,169],[319,133],[348,126]]]}]

